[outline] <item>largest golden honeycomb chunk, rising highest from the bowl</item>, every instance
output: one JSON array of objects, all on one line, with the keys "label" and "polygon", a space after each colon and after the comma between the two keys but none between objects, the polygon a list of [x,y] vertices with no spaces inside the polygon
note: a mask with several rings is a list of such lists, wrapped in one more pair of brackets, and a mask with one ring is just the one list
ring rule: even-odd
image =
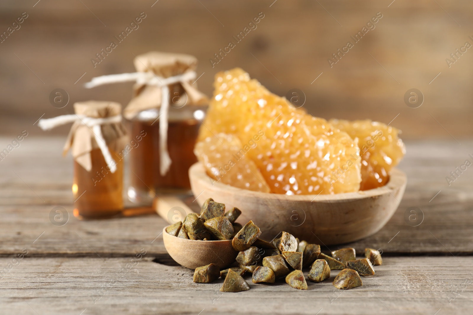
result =
[{"label": "largest golden honeycomb chunk, rising highest from the bowl", "polygon": [[[200,141],[227,133],[251,145],[245,156],[254,161],[273,193],[359,190],[361,159],[356,139],[325,119],[289,106],[285,98],[270,93],[240,68],[218,73],[214,85]],[[340,167],[345,171],[333,180],[332,172]]]}]

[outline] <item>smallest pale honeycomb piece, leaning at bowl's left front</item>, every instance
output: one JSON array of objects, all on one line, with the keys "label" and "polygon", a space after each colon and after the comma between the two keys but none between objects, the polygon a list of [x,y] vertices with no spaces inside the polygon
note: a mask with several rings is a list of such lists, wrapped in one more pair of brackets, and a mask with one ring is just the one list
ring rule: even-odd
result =
[{"label": "smallest pale honeycomb piece, leaning at bowl's left front", "polygon": [[269,193],[268,184],[245,153],[237,136],[219,133],[199,141],[194,148],[207,174],[223,184]]}]

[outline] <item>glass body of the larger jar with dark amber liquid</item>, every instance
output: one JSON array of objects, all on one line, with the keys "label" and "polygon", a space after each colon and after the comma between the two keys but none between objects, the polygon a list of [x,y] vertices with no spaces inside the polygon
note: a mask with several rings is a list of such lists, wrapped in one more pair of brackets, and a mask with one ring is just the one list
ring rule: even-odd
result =
[{"label": "glass body of the larger jar with dark amber liquid", "polygon": [[128,198],[133,203],[149,205],[157,194],[190,193],[188,171],[197,162],[193,150],[207,106],[170,105],[167,150],[172,163],[164,176],[159,171],[159,110],[141,111],[131,120],[131,138],[141,139],[130,152]]}]

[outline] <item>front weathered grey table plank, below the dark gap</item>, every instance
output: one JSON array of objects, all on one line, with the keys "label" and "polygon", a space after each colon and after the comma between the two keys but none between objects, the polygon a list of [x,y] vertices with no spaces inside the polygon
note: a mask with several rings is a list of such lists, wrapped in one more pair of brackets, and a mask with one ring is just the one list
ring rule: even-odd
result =
[{"label": "front weathered grey table plank, below the dark gap", "polygon": [[[283,280],[254,284],[245,276],[251,289],[239,293],[220,292],[222,279],[193,283],[193,270],[153,263],[149,253],[131,259],[18,260],[2,274],[2,313],[434,315],[470,314],[473,308],[473,257],[385,258],[376,275],[346,291],[333,287],[335,270],[326,281],[309,281],[304,291]],[[0,266],[11,262],[1,258]]]}]

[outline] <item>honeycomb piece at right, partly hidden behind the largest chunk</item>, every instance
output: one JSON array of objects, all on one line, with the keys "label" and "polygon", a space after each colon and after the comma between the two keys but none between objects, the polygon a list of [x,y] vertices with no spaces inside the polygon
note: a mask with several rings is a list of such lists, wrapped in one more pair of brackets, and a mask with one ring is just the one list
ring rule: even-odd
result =
[{"label": "honeycomb piece at right, partly hidden behind the largest chunk", "polygon": [[391,169],[396,166],[406,149],[403,140],[398,138],[399,130],[383,123],[367,120],[329,121],[333,127],[358,137],[361,156],[360,190],[368,190],[385,185]]}]

